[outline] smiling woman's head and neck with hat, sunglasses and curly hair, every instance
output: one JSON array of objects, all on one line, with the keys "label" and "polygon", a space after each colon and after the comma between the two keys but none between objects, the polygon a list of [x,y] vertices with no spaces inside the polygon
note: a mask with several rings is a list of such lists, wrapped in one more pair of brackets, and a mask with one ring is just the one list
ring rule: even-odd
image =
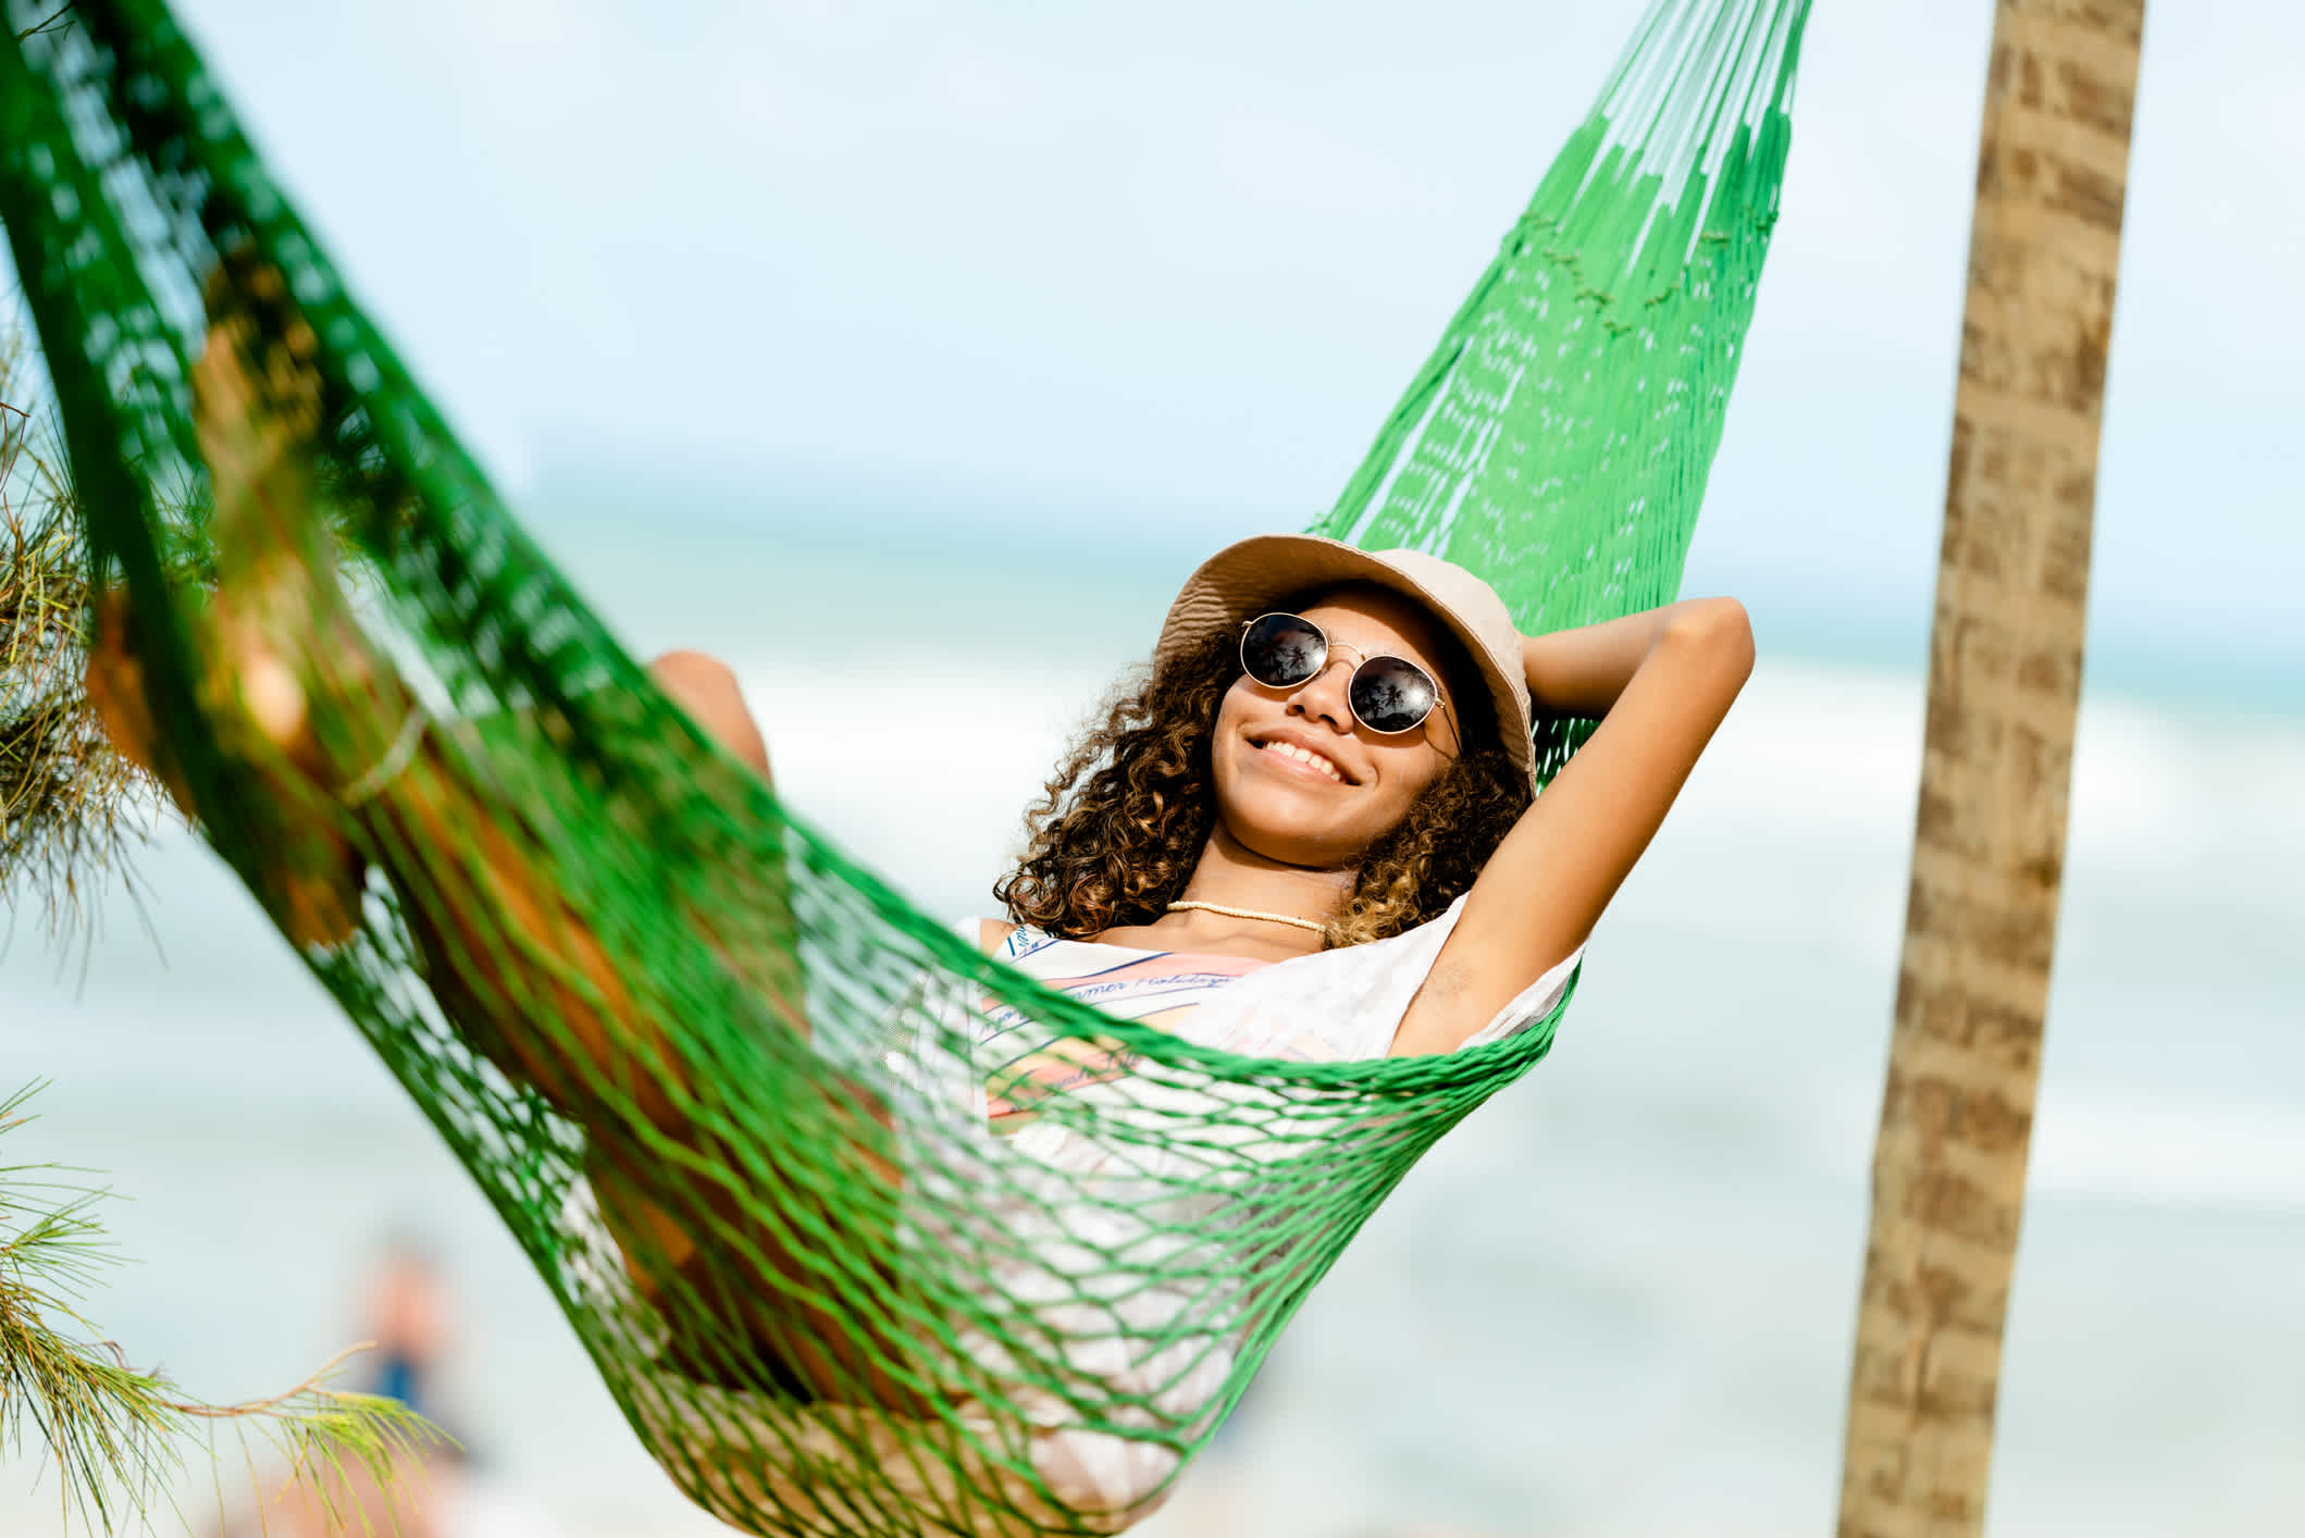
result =
[{"label": "smiling woman's head and neck with hat, sunglasses and curly hair", "polygon": [[[998,895],[1070,938],[1222,938],[1265,959],[1431,920],[1531,798],[1517,646],[1503,602],[1448,563],[1247,540],[1185,583],[1152,678],[1060,768]],[[1367,724],[1388,673],[1431,713]]]}]

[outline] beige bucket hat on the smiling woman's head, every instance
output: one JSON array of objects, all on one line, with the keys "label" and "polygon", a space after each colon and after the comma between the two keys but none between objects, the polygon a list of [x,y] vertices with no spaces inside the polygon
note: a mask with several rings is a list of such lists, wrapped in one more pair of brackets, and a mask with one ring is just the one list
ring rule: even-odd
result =
[{"label": "beige bucket hat on the smiling woman's head", "polygon": [[1321,535],[1256,535],[1226,544],[1185,579],[1185,588],[1169,604],[1152,662],[1162,664],[1217,632],[1238,634],[1259,613],[1348,581],[1399,593],[1464,643],[1482,683],[1489,685],[1505,754],[1535,784],[1521,632],[1496,588],[1461,565],[1424,551],[1365,551]]}]

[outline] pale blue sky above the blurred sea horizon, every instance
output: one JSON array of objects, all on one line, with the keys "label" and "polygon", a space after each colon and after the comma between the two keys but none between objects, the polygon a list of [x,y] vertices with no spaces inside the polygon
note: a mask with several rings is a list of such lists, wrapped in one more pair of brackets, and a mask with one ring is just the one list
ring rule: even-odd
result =
[{"label": "pale blue sky above the blurred sea horizon", "polygon": [[[546,542],[595,477],[1201,546],[1325,507],[1639,5],[182,12]],[[1692,586],[1925,625],[1989,21],[1819,0]],[[2148,25],[2100,636],[2296,676],[2305,7]]]}]

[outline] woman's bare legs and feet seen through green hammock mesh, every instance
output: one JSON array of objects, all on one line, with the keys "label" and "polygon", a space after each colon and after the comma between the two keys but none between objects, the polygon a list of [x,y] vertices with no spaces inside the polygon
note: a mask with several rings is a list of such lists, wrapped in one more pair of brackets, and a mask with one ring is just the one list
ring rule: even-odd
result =
[{"label": "woman's bare legs and feet seen through green hammock mesh", "polygon": [[[433,729],[415,738],[406,763],[380,784],[364,784],[390,761],[390,738],[401,722],[415,719],[417,706],[343,606],[330,551],[316,544],[304,443],[288,431],[293,413],[284,417],[277,406],[254,404],[237,353],[247,341],[244,327],[235,334],[219,323],[198,364],[196,410],[224,549],[219,588],[194,625],[205,632],[201,655],[210,669],[203,710],[235,768],[265,782],[251,800],[272,807],[279,823],[267,823],[263,851],[281,855],[279,869],[258,872],[258,895],[272,918],[300,945],[343,943],[355,932],[373,858],[401,895],[422,971],[449,1021],[507,1077],[535,1086],[585,1128],[604,1220],[643,1294],[664,1305],[675,1349],[680,1312],[705,1300],[715,1317],[701,1333],[754,1342],[772,1358],[765,1379],[798,1384],[818,1397],[917,1409],[917,1395],[871,1360],[913,1356],[897,1340],[899,1330],[885,1319],[788,1298],[788,1287],[811,1277],[814,1266],[774,1222],[756,1215],[816,1208],[825,1231],[839,1236],[844,1224],[862,1222],[857,1243],[874,1254],[892,1252],[897,1171],[874,1151],[881,1137],[871,1123],[885,1128],[887,1116],[869,1091],[821,1086],[830,1123],[848,1118],[857,1128],[857,1158],[846,1162],[878,1176],[853,1192],[844,1211],[798,1188],[731,1190],[742,1162],[696,1141],[701,1134],[682,1114],[692,1086],[668,1033],[648,1019],[585,913],[546,874],[551,830],[507,823],[507,814],[521,819],[526,809],[493,805]],[[293,369],[290,360],[286,371]],[[270,360],[265,378],[277,385],[281,374],[279,360]],[[115,629],[99,632],[90,692],[99,694],[120,747],[166,772],[168,756],[143,713],[124,618],[113,613]],[[765,775],[765,745],[724,666],[675,653],[655,671],[659,687],[703,731]],[[272,708],[277,701],[286,706]],[[323,740],[316,717],[376,740]],[[715,772],[715,766],[701,763],[698,772]],[[168,784],[184,809],[196,812],[182,777]],[[362,793],[346,807],[346,789],[355,784]],[[272,835],[279,835],[279,851]],[[781,867],[731,883],[738,892],[747,888],[781,904]],[[689,918],[733,975],[798,980],[788,948],[768,959],[728,955],[721,925]],[[770,929],[788,936],[788,925]],[[758,934],[758,927],[740,932]],[[807,1031],[798,987],[768,1003]],[[666,1137],[694,1146],[705,1169],[724,1178],[698,1178],[675,1160],[652,1158],[648,1144]],[[894,1280],[887,1287],[894,1289]],[[705,1356],[726,1356],[726,1349]]]}]

